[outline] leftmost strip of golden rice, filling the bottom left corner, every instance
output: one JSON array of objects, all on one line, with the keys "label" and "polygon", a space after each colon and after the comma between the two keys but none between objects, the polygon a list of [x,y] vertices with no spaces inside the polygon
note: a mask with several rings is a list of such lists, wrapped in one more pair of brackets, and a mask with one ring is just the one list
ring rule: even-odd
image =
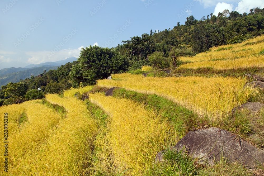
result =
[{"label": "leftmost strip of golden rice, filling the bottom left corner", "polygon": [[[9,175],[32,175],[32,170],[39,157],[42,147],[48,139],[61,117],[43,104],[29,101],[0,108],[1,113],[8,113],[8,163]],[[19,123],[22,113],[26,119]],[[17,114],[17,115],[15,115]],[[15,116],[13,116],[15,115]],[[12,128],[16,126],[16,128]],[[1,126],[3,124],[1,123]],[[2,137],[2,136],[1,136]],[[2,138],[3,139],[3,138]],[[0,148],[3,153],[3,148]],[[3,163],[3,157],[1,157]],[[39,166],[39,165],[37,165]],[[3,170],[0,170],[3,174]]]}]

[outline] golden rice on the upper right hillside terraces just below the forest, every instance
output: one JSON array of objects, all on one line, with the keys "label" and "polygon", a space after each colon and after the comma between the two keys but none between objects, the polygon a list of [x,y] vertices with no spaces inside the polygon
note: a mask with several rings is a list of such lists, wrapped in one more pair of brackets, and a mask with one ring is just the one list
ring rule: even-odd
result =
[{"label": "golden rice on the upper right hillside terraces just below the forest", "polygon": [[264,36],[244,41],[240,44],[212,47],[209,52],[197,54],[194,57],[181,57],[183,64],[179,68],[236,69],[246,67],[263,67],[264,56],[258,55],[264,48]]}]

